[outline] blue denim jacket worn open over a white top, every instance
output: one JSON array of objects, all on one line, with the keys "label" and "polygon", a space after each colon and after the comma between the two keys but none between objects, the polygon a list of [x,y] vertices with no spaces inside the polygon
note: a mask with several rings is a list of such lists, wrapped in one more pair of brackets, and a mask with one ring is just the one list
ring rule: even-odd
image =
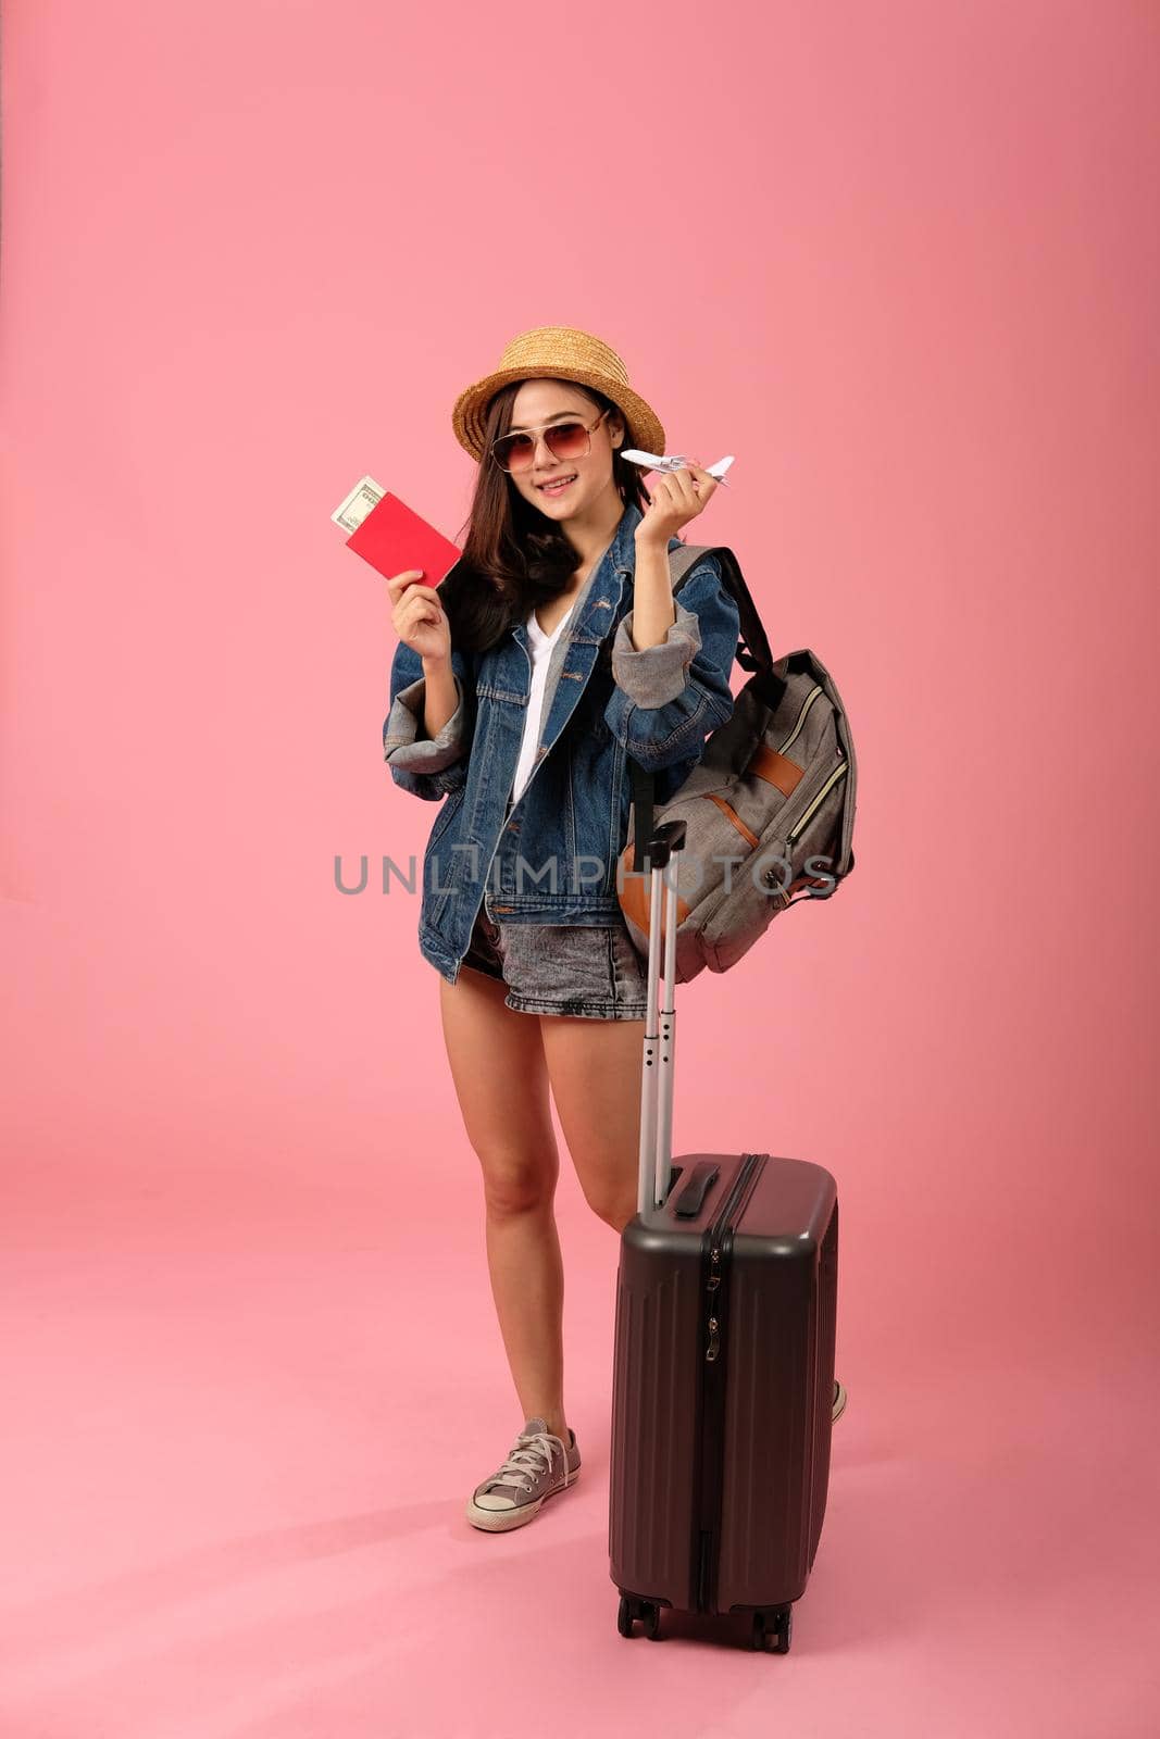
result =
[{"label": "blue denim jacket worn open over a white top", "polygon": [[[706,555],[673,598],[664,640],[631,643],[635,530],[626,503],[581,586],[548,666],[539,746],[510,802],[529,703],[527,626],[485,652],[452,642],[459,704],[443,729],[423,725],[423,659],[402,640],[391,663],[383,756],[395,784],[443,805],[423,857],[419,951],[454,984],[483,906],[504,923],[616,923],[617,864],[628,842],[631,755],[656,774],[656,800],[689,777],[704,739],[732,715],[737,605]],[[670,550],[680,539],[670,539]]]}]

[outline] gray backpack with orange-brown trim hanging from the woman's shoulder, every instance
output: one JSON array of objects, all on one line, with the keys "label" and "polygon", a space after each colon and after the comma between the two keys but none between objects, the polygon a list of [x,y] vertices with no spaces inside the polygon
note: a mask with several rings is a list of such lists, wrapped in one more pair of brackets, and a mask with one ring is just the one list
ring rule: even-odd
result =
[{"label": "gray backpack with orange-brown trim hanging from the woman's shoulder", "polygon": [[671,550],[673,591],[710,553],[737,603],[737,663],[753,676],[732,716],[706,737],[703,758],[659,807],[654,776],[630,758],[633,803],[617,876],[630,936],[647,955],[649,840],[664,821],[685,823],[685,849],[675,859],[678,984],[703,967],[727,972],[786,906],[828,899],[854,868],[857,765],[833,678],[810,650],[774,663],[732,550]]}]

